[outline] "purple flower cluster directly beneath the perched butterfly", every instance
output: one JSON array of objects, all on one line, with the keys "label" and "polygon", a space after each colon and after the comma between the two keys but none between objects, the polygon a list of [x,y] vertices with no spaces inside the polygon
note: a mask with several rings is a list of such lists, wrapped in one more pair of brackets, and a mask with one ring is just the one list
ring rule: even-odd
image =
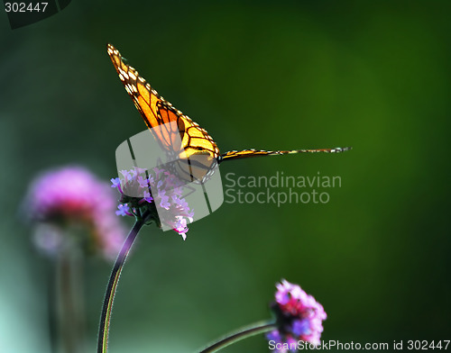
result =
[{"label": "purple flower cluster directly beneath the perched butterfly", "polygon": [[182,197],[183,183],[179,178],[158,167],[150,171],[134,167],[122,170],[121,174],[122,177],[111,179],[111,187],[117,188],[122,195],[115,213],[136,216],[150,210],[160,225],[163,222],[186,240],[187,224],[193,222],[194,211]]}]

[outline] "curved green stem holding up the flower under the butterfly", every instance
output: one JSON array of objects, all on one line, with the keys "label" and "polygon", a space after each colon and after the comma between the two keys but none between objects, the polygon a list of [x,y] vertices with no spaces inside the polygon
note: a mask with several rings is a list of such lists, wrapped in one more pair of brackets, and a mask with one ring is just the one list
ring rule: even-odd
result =
[{"label": "curved green stem holding up the flower under the butterfly", "polygon": [[124,262],[128,256],[128,253],[130,252],[130,249],[132,249],[133,242],[145,222],[148,221],[148,217],[149,214],[143,214],[143,217],[136,218],[136,222],[133,225],[132,231],[130,231],[130,233],[128,234],[127,239],[124,241],[124,245],[115,260],[115,266],[111,271],[108,286],[106,287],[104,305],[102,307],[102,316],[100,317],[100,327],[98,329],[97,338],[97,353],[106,353],[111,309],[113,307],[113,301],[115,299],[115,290],[117,283],[119,282],[119,276],[121,276],[122,267],[124,267]]}]

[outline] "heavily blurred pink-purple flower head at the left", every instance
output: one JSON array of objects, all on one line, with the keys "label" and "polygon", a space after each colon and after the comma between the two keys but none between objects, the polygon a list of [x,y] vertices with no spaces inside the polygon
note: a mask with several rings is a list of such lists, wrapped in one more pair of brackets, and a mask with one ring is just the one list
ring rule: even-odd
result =
[{"label": "heavily blurred pink-purple flower head at the left", "polygon": [[[61,167],[36,177],[29,187],[23,211],[35,226],[38,249],[56,255],[72,242],[87,244],[114,259],[124,242],[125,231],[115,217],[115,193],[84,167]],[[71,237],[80,226],[87,239]]]}]

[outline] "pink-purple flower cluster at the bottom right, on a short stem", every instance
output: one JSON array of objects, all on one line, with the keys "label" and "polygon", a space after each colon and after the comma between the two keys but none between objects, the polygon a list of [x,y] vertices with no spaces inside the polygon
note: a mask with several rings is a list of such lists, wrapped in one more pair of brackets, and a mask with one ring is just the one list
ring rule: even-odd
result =
[{"label": "pink-purple flower cluster at the bottom right, on a short stem", "polygon": [[293,285],[285,279],[276,287],[272,310],[276,314],[279,328],[266,334],[268,340],[280,347],[275,351],[296,351],[299,340],[318,345],[323,331],[322,321],[327,318],[323,306],[299,285]]}]

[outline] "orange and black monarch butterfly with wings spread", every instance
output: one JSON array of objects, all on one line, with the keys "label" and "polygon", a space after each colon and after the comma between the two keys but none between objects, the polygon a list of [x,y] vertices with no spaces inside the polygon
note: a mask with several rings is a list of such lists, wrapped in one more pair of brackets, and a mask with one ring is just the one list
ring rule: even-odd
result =
[{"label": "orange and black monarch butterfly with wings spread", "polygon": [[[226,160],[290,153],[337,153],[351,149],[349,147],[292,150],[243,149],[220,154],[216,142],[207,131],[159,95],[138,74],[138,71],[124,62],[119,50],[116,50],[113,45],[107,44],[107,52],[147,127],[163,149],[178,155],[179,175],[181,174],[184,179],[203,180],[213,167]],[[164,128],[161,128],[162,126]]]}]

